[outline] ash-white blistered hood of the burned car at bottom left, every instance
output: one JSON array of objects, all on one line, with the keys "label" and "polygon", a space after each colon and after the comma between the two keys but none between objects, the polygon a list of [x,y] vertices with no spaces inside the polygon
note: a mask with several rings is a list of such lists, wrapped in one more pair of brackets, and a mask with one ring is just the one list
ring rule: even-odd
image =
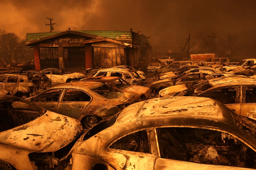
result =
[{"label": "ash-white blistered hood of the burned car at bottom left", "polygon": [[0,133],[0,143],[35,152],[55,152],[72,142],[83,126],[73,118],[47,111],[44,115]]}]

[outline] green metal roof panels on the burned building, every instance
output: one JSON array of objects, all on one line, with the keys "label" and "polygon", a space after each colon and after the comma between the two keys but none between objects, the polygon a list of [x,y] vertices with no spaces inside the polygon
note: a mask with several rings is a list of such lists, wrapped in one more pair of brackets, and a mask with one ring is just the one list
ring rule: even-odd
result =
[{"label": "green metal roof panels on the burned building", "polygon": [[[116,40],[120,40],[120,41],[129,41],[128,39],[132,40],[132,32],[131,31],[77,31],[77,32],[97,35],[97,36],[106,37],[106,38],[110,38],[110,39],[116,39]],[[32,41],[32,40],[40,39],[40,38],[47,37],[50,35],[54,35],[57,33],[61,33],[61,32],[27,33],[25,41],[26,42]],[[123,38],[121,38],[121,37],[123,37]]]}]

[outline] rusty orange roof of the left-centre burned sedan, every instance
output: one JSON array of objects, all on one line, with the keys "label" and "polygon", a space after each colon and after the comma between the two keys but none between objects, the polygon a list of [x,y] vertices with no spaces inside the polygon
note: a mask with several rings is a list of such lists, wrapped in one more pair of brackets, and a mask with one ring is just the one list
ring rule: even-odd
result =
[{"label": "rusty orange roof of the left-centre burned sedan", "polygon": [[72,83],[65,83],[65,84],[61,84],[61,85],[56,85],[54,87],[52,87],[52,89],[54,88],[75,88],[76,86],[85,88],[85,89],[94,89],[96,87],[99,87],[101,85],[104,85],[103,83],[100,82],[92,82],[92,81],[87,81],[86,83],[84,82],[72,82]]}]

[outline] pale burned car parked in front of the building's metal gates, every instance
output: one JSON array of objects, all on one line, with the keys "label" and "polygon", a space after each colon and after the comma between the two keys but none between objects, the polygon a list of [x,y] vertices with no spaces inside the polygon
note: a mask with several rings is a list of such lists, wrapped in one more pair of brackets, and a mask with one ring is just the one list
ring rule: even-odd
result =
[{"label": "pale burned car parked in front of the building's metal gates", "polygon": [[50,78],[52,83],[70,83],[85,78],[85,75],[82,73],[74,73],[62,67],[44,69],[40,72]]}]

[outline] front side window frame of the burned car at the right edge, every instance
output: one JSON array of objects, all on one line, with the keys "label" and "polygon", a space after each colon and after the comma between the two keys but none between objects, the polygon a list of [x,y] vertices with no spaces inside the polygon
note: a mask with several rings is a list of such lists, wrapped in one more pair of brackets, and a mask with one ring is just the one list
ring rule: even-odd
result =
[{"label": "front side window frame of the burned car at the right edge", "polygon": [[[225,88],[230,88],[230,87],[237,87],[237,92],[236,92],[236,100],[235,100],[235,103],[229,103],[230,105],[234,105],[234,104],[240,104],[241,103],[241,90],[242,90],[242,87],[241,85],[225,85],[225,86],[221,86],[221,87],[212,87],[202,93],[199,93],[198,94],[198,97],[201,97],[207,93],[210,93],[212,91],[216,91],[216,90],[220,90],[220,89],[225,89]],[[218,100],[219,101],[219,100]],[[222,102],[222,101],[220,101]],[[225,105],[229,105],[229,104],[225,104]]]}]

